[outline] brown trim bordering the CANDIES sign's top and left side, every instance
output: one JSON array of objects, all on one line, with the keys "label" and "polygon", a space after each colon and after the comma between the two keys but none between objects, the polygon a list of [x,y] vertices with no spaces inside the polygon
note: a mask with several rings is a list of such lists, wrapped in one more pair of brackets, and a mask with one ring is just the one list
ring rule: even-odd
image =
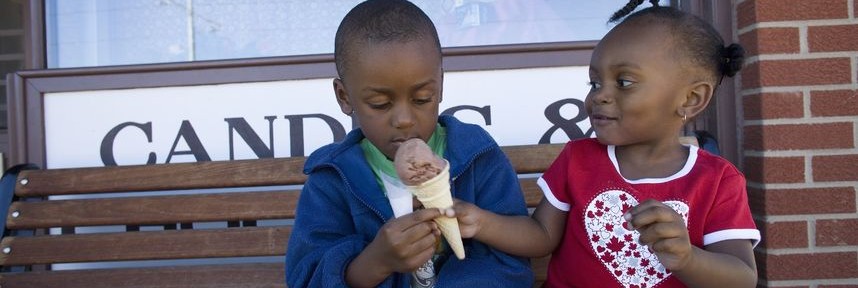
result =
[{"label": "brown trim bordering the CANDIES sign's top and left side", "polygon": [[[586,66],[596,41],[447,48],[452,71]],[[185,63],[23,70],[10,94],[10,164],[45,166],[45,93],[336,77],[332,54]]]}]

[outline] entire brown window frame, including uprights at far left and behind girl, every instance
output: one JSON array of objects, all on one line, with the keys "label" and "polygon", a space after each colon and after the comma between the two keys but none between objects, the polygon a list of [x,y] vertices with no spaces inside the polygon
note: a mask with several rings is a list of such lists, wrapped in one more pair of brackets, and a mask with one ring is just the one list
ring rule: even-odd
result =
[{"label": "entire brown window frame, including uprights at far left and behind girl", "polygon": [[[729,1],[672,0],[671,5],[711,21],[727,41],[734,39]],[[333,54],[177,62],[127,66],[44,69],[44,0],[24,3],[25,68],[10,75],[7,106],[11,163],[45,164],[42,97],[45,93],[148,88],[336,77]],[[587,66],[598,41],[444,48],[445,71]],[[719,140],[722,156],[739,166],[735,99],[737,82],[725,78],[714,105],[687,130],[705,129]],[[549,88],[550,89],[550,88]]]}]

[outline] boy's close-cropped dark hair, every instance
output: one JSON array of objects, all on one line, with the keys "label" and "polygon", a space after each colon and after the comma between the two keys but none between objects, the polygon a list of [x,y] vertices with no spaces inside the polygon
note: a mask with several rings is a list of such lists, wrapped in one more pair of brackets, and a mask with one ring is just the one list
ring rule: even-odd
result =
[{"label": "boy's close-cropped dark hair", "polygon": [[334,39],[337,74],[343,78],[350,61],[367,44],[431,40],[441,57],[435,25],[423,10],[406,0],[368,0],[346,14]]}]

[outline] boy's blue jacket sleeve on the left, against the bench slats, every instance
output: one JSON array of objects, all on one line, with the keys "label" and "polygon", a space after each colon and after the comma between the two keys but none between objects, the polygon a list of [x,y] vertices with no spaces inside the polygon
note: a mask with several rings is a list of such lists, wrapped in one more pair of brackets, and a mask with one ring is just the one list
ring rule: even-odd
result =
[{"label": "boy's blue jacket sleeve on the left, against the bench slats", "polygon": [[307,179],[287,246],[288,287],[347,286],[346,267],[367,243],[350,220],[341,182],[330,169]]}]

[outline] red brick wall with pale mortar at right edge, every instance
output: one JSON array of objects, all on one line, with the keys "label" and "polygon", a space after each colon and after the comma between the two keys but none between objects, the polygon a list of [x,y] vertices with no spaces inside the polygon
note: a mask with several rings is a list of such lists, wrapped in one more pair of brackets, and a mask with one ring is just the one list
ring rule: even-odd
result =
[{"label": "red brick wall with pale mortar at right edge", "polygon": [[734,1],[762,287],[858,287],[858,0]]}]

